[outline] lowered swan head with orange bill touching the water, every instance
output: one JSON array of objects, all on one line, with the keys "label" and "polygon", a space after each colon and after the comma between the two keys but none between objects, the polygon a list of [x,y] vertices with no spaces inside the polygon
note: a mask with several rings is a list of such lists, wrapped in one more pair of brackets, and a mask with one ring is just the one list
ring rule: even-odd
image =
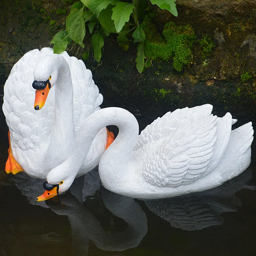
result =
[{"label": "lowered swan head with orange bill touching the water", "polygon": [[72,175],[71,172],[68,172],[64,165],[65,162],[53,168],[48,173],[46,180],[43,183],[45,191],[41,196],[36,198],[37,201],[45,201],[68,191],[76,178],[76,175]]}]

